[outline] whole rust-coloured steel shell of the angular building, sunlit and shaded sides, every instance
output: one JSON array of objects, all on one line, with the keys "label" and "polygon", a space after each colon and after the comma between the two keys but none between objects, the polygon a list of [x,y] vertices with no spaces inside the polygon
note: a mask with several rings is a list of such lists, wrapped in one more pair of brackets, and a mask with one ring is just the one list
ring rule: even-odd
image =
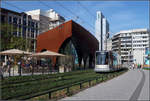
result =
[{"label": "whole rust-coloured steel shell of the angular building, sunlit and shaded sides", "polygon": [[95,62],[95,51],[98,50],[97,39],[82,26],[70,20],[47,32],[41,33],[37,37],[37,52],[51,50],[60,52],[60,47],[71,40],[78,55],[79,66],[83,59],[84,66],[89,57],[89,66]]}]

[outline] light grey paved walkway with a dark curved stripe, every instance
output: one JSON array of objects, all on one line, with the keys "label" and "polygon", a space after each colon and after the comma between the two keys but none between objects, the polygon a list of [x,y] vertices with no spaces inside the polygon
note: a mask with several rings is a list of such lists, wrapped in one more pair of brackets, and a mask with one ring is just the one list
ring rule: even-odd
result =
[{"label": "light grey paved walkway with a dark curved stripe", "polygon": [[149,70],[129,70],[63,100],[150,100]]}]

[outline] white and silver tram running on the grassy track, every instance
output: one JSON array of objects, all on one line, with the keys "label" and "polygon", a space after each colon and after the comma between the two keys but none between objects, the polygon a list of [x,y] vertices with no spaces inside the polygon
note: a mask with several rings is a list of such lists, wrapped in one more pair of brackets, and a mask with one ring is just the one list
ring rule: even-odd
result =
[{"label": "white and silver tram running on the grassy track", "polygon": [[120,69],[120,55],[113,51],[96,51],[95,72],[111,72]]}]

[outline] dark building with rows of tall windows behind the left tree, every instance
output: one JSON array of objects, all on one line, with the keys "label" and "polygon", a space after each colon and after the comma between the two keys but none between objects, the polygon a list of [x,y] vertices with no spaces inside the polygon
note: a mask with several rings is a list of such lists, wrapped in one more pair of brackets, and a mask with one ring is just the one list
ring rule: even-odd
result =
[{"label": "dark building with rows of tall windows behind the left tree", "polygon": [[1,25],[11,26],[9,34],[16,37],[31,39],[32,51],[36,48],[36,37],[39,34],[39,21],[22,12],[1,8]]}]

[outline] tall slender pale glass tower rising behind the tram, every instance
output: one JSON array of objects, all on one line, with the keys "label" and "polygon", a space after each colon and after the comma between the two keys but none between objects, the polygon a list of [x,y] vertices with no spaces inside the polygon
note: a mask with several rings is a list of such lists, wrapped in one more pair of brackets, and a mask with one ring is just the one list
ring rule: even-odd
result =
[{"label": "tall slender pale glass tower rising behind the tram", "polygon": [[95,22],[95,37],[99,41],[99,50],[106,50],[105,43],[107,42],[107,36],[109,32],[109,24],[102,12],[97,12]]}]

